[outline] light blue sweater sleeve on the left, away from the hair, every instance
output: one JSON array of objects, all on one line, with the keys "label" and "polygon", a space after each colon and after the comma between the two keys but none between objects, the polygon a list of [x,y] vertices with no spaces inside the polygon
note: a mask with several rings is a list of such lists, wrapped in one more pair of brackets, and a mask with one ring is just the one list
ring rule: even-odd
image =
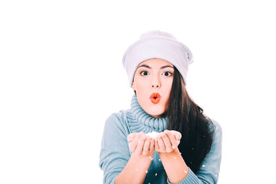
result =
[{"label": "light blue sweater sleeve on the left, away from the hair", "polygon": [[116,113],[111,114],[103,129],[99,167],[103,170],[103,183],[115,183],[117,175],[124,170],[130,152],[124,120]]}]

